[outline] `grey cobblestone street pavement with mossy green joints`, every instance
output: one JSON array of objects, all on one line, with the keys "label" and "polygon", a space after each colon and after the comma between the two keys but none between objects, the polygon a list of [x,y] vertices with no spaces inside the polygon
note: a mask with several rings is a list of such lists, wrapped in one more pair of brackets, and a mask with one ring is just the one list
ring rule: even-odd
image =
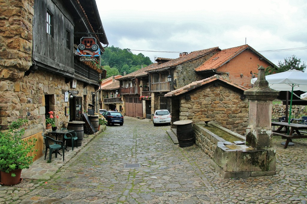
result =
[{"label": "grey cobblestone street pavement with mossy green joints", "polygon": [[[196,145],[173,144],[169,128],[125,117],[49,180],[0,187],[0,203],[306,203],[307,140],[283,149],[274,138],[274,176],[223,179]],[[124,168],[136,163],[141,167]]]}]

